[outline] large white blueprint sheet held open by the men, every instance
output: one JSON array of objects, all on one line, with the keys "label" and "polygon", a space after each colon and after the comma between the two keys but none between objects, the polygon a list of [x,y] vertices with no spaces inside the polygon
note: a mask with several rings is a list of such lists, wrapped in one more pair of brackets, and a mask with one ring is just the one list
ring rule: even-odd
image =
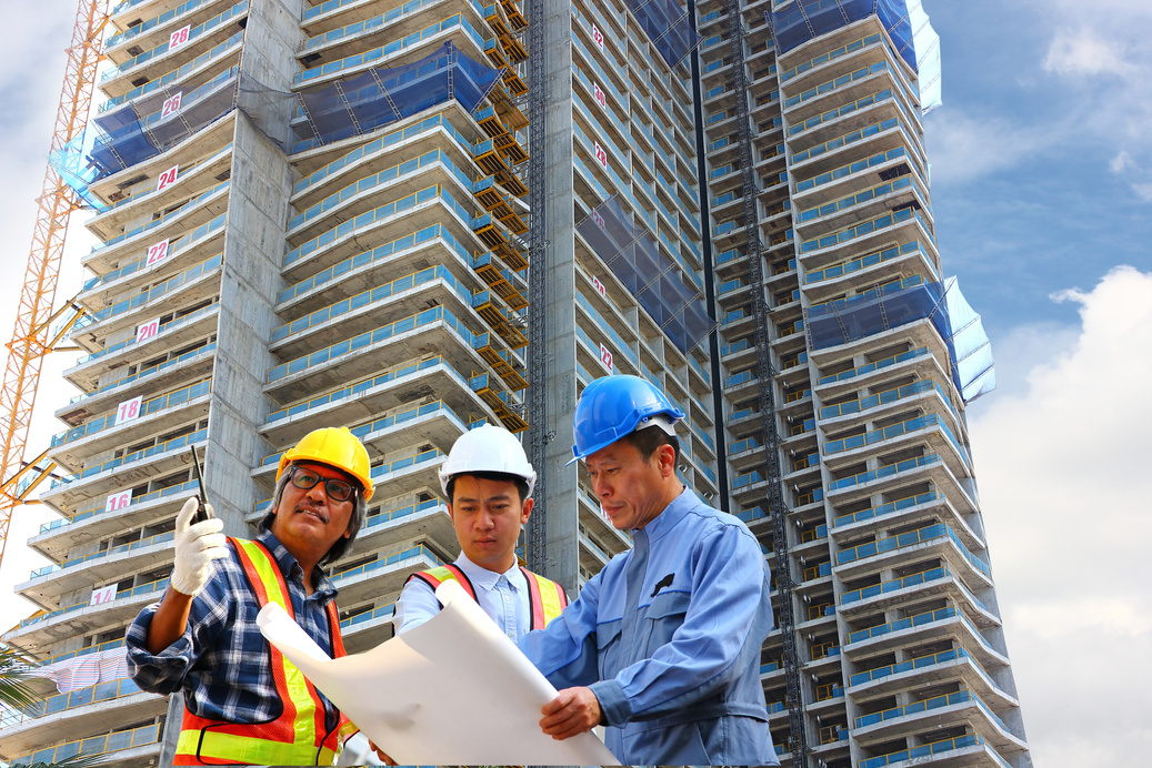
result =
[{"label": "large white blueprint sheet held open by the men", "polygon": [[260,632],[400,765],[619,765],[592,733],[540,730],[556,690],[458,584],[444,610],[365,653],[329,659],[282,608]]}]

